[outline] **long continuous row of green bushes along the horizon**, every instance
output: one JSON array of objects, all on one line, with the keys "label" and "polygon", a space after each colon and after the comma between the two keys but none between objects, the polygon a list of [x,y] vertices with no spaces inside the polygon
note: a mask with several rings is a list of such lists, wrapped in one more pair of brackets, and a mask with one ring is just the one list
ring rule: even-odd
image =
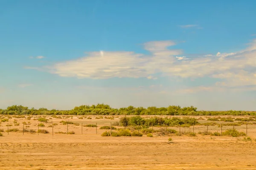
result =
[{"label": "long continuous row of green bushes along the horizon", "polygon": [[47,108],[31,108],[22,105],[13,105],[7,107],[5,110],[0,109],[0,114],[8,115],[189,115],[189,116],[209,116],[209,115],[256,115],[256,111],[197,111],[194,106],[183,107],[169,106],[169,107],[134,107],[128,106],[127,108],[111,108],[109,105],[81,105],[68,111],[58,111],[55,109],[48,110]]}]

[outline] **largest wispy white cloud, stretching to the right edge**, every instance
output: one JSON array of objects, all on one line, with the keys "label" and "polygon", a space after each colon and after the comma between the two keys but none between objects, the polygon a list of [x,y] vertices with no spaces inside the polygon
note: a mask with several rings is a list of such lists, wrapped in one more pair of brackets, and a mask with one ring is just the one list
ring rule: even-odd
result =
[{"label": "largest wispy white cloud, stretching to the right edge", "polygon": [[[151,54],[137,54],[132,51],[92,51],[87,52],[87,57],[58,62],[44,68],[25,68],[49,71],[61,77],[91,79],[210,77],[221,79],[218,83],[216,80],[216,88],[256,85],[256,40],[241,51],[218,52],[215,55],[207,54],[190,59],[176,57],[182,54],[183,51],[180,49],[167,48],[175,45],[173,41],[151,41],[143,45]],[[200,89],[207,88],[200,87],[196,91]]]}]

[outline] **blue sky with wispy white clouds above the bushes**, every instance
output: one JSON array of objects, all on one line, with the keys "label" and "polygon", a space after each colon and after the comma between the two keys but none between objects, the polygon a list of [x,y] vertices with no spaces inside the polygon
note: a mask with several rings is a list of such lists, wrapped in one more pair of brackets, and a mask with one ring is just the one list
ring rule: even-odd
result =
[{"label": "blue sky with wispy white clouds above the bushes", "polygon": [[255,6],[2,0],[0,108],[256,110]]}]

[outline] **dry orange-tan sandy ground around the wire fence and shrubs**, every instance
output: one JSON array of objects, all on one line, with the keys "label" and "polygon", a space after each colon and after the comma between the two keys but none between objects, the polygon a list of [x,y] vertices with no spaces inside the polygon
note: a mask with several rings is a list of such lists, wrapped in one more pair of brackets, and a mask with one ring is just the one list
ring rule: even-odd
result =
[{"label": "dry orange-tan sandy ground around the wire fence and shrubs", "polygon": [[[49,116],[48,116],[49,117]],[[15,118],[14,118],[15,119]],[[9,124],[14,119],[9,119]],[[253,170],[256,169],[256,126],[248,125],[248,136],[252,142],[245,142],[243,137],[227,136],[169,136],[153,137],[102,137],[106,130],[100,126],[116,122],[110,119],[69,119],[80,125],[69,125],[69,130],[76,134],[56,134],[52,136],[51,123],[44,123],[40,129],[49,130],[48,134],[3,132],[0,136],[0,170]],[[17,122],[31,122],[28,129],[37,130],[38,121],[16,119]],[[61,120],[53,130],[66,131],[67,125]],[[83,127],[81,123],[95,124],[95,127]],[[0,129],[7,130],[8,122],[2,122]],[[13,123],[12,123],[13,124]],[[17,128],[12,126],[9,128]],[[23,125],[18,126],[22,130]],[[178,130],[177,127],[175,127]],[[174,128],[174,129],[175,129]],[[230,128],[230,127],[224,127]],[[233,127],[232,127],[233,128]],[[245,125],[236,127],[246,131]],[[182,130],[192,130],[182,128]],[[205,130],[205,126],[195,126],[195,132]],[[218,127],[208,127],[217,131]]]}]

